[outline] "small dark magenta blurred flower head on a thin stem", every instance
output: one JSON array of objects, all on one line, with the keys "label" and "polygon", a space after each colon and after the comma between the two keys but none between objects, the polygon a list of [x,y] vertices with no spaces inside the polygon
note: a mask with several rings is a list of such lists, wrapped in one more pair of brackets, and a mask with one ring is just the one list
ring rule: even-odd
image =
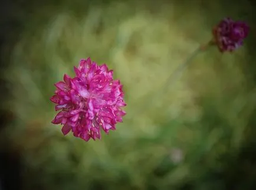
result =
[{"label": "small dark magenta blurred flower head on a thin stem", "polygon": [[249,26],[247,24],[242,21],[233,21],[231,18],[223,19],[212,30],[214,44],[218,46],[221,52],[232,52],[242,46],[248,32]]}]

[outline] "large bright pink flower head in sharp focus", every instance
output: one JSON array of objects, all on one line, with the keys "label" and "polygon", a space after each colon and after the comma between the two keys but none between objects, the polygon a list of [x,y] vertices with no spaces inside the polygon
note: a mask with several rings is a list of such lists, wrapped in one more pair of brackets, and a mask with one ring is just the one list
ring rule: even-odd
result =
[{"label": "large bright pink flower head in sharp focus", "polygon": [[106,64],[99,66],[90,58],[82,59],[74,71],[74,78],[64,75],[64,81],[55,84],[57,90],[51,101],[60,112],[52,124],[62,124],[64,135],[72,131],[85,141],[100,139],[100,129],[108,134],[126,114],[121,109],[126,106],[123,85],[113,80],[113,71]]}]

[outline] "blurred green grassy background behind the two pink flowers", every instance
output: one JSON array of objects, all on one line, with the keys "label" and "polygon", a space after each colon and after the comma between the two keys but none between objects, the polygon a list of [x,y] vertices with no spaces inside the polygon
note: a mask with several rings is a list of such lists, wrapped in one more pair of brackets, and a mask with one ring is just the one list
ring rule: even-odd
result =
[{"label": "blurred green grassy background behind the two pink flowers", "polygon": [[[0,189],[254,189],[256,66],[250,1],[5,1]],[[175,68],[225,16],[251,26],[232,54]],[[63,136],[49,98],[89,57],[114,69],[127,115],[100,141]]]}]

